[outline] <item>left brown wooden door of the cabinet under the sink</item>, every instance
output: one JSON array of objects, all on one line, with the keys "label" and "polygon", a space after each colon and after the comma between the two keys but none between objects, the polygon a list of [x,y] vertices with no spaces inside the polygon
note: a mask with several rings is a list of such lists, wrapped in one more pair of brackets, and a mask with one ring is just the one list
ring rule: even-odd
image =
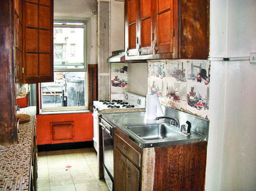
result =
[{"label": "left brown wooden door of the cabinet under the sink", "polygon": [[114,148],[114,190],[125,190],[126,158]]}]

